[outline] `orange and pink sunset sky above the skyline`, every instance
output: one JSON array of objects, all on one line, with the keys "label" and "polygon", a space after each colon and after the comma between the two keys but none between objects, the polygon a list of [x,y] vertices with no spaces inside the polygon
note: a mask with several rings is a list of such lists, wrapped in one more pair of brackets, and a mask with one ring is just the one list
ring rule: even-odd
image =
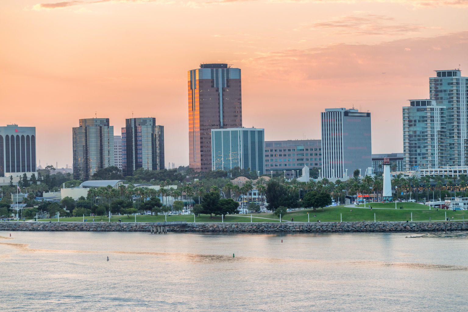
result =
[{"label": "orange and pink sunset sky above the skyline", "polygon": [[[44,2],[40,2],[44,1]],[[402,152],[402,106],[434,70],[468,76],[468,0],[1,0],[0,125],[35,126],[37,162],[72,166],[72,127],[165,127],[188,164],[187,71],[241,68],[245,127],[319,139],[320,112],[372,114],[373,153]]]}]

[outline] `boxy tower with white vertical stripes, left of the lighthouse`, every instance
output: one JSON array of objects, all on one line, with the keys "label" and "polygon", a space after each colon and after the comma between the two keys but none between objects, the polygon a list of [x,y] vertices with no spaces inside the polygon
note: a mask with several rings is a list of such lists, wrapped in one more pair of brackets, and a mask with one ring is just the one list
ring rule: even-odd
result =
[{"label": "boxy tower with white vertical stripes, left of the lighthouse", "polygon": [[348,179],[372,167],[371,113],[325,109],[322,120],[322,177]]}]

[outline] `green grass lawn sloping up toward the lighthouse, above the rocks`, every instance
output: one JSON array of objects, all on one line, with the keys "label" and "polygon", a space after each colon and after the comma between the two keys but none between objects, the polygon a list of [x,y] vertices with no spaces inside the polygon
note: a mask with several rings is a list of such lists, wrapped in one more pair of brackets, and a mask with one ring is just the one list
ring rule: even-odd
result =
[{"label": "green grass lawn sloping up toward the lighthouse, above the rocks", "polygon": [[[385,204],[385,203],[384,203]],[[397,203],[398,204],[398,203]],[[403,204],[403,203],[402,203]],[[405,204],[415,204],[415,203],[405,203]],[[377,208],[376,204],[372,205],[373,208]],[[413,214],[413,221],[443,221],[445,219],[445,213],[447,213],[447,218],[454,220],[468,220],[468,210],[452,211],[452,210],[422,210],[422,209],[361,209],[361,208],[347,208],[344,206],[337,207],[328,207],[323,211],[322,209],[313,210],[297,210],[288,212],[285,216],[282,217],[284,221],[291,221],[291,218],[294,218],[294,221],[307,222],[307,212],[310,215],[310,222],[317,222],[320,220],[322,222],[339,222],[340,214],[343,218],[343,222],[356,222],[356,221],[374,221],[374,213],[376,221],[411,221],[411,213]],[[379,207],[380,208],[380,207]],[[351,212],[352,210],[352,212]],[[317,217],[313,217],[317,215]],[[248,218],[246,218],[246,216]],[[278,218],[272,213],[256,213],[252,214],[253,222],[279,222]],[[86,217],[88,222],[93,222],[92,217]],[[111,222],[117,222],[118,219],[122,219],[122,222],[134,222],[135,217],[130,216],[128,218],[124,216],[112,216],[110,218]],[[262,219],[262,218],[271,218]],[[168,221],[186,221],[193,222],[193,215],[172,215],[167,217]],[[43,219],[39,221],[48,222],[50,219]],[[57,219],[52,219],[52,222],[56,222]],[[60,218],[62,222],[82,222],[83,217],[72,217],[72,218]],[[102,217],[102,222],[108,222],[109,218]],[[164,215],[160,216],[141,216],[137,215],[137,222],[163,222]],[[228,215],[224,218],[225,222],[250,222],[250,215]],[[95,217],[95,222],[101,222],[101,217]],[[209,215],[201,215],[196,218],[196,222],[221,222],[221,216],[216,216],[210,218]]]}]

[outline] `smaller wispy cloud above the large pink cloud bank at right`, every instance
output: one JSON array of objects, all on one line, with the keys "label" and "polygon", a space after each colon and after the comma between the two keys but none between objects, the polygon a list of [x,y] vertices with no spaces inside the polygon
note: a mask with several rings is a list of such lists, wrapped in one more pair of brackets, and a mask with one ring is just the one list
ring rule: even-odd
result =
[{"label": "smaller wispy cloud above the large pink cloud bank at right", "polygon": [[337,35],[405,35],[426,29],[419,24],[395,23],[385,15],[345,15],[328,22],[303,25],[302,29],[335,29]]}]

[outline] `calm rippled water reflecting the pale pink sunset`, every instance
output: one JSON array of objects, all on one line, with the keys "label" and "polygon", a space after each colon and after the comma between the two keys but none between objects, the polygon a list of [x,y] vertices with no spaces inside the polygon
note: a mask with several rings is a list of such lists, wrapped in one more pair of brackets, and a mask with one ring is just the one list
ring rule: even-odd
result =
[{"label": "calm rippled water reflecting the pale pink sunset", "polygon": [[0,232],[0,311],[464,311],[468,233],[406,235]]}]

